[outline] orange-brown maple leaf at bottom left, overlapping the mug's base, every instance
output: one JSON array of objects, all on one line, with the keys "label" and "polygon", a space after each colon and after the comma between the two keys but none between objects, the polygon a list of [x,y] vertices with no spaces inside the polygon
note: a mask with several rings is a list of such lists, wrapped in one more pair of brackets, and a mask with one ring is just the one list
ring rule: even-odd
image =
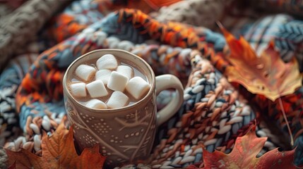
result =
[{"label": "orange-brown maple leaf at bottom left, overlapping the mug's base", "polygon": [[73,127],[69,130],[61,123],[52,136],[42,137],[42,157],[32,152],[21,149],[10,151],[8,154],[8,166],[16,165],[16,168],[102,168],[105,156],[99,153],[99,144],[84,149],[80,156],[76,153],[73,144]]}]

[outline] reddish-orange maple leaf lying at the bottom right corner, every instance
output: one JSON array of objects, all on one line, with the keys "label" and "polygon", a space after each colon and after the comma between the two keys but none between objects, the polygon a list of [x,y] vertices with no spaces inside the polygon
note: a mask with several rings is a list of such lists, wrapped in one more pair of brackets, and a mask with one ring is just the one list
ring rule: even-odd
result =
[{"label": "reddish-orange maple leaf lying at the bottom right corner", "polygon": [[234,148],[230,154],[221,151],[210,153],[203,151],[204,168],[296,168],[292,164],[295,156],[295,149],[291,151],[278,151],[273,149],[263,156],[256,158],[267,137],[256,137],[256,126],[252,127],[243,137],[237,137]]}]

